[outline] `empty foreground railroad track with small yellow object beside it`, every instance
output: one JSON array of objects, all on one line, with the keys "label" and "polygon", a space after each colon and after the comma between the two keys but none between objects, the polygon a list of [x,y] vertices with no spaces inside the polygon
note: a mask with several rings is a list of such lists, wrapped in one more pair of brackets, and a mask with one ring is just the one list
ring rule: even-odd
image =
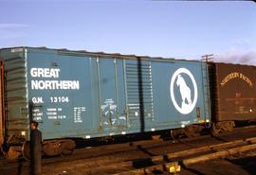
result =
[{"label": "empty foreground railroad track with small yellow object beside it", "polygon": [[211,159],[229,157],[231,155],[256,149],[256,137],[216,144],[208,147],[182,150],[174,153],[152,156],[141,160],[130,160],[97,166],[83,171],[85,174],[150,174],[158,172],[179,171],[180,167],[189,167],[193,164]]}]

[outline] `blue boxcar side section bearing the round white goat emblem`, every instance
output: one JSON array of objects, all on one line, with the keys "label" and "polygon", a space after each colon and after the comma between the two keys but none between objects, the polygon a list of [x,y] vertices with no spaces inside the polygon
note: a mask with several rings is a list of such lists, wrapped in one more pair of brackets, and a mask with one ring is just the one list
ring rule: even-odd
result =
[{"label": "blue boxcar side section bearing the round white goat emblem", "polygon": [[210,121],[204,62],[155,61],[152,67],[155,127],[183,128]]}]

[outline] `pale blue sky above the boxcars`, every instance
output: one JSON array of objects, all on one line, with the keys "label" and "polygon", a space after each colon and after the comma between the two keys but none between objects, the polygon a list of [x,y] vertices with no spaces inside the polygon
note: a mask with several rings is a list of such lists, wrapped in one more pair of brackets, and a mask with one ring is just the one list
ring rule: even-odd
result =
[{"label": "pale blue sky above the boxcars", "polygon": [[0,48],[256,64],[252,1],[0,0]]}]

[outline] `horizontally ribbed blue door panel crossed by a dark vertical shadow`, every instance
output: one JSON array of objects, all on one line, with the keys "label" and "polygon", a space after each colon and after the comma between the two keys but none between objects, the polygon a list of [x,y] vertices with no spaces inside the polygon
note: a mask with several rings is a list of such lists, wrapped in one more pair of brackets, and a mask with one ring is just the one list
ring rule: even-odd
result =
[{"label": "horizontally ribbed blue door panel crossed by a dark vertical shadow", "polygon": [[127,61],[127,106],[130,119],[154,118],[152,73],[150,61]]}]

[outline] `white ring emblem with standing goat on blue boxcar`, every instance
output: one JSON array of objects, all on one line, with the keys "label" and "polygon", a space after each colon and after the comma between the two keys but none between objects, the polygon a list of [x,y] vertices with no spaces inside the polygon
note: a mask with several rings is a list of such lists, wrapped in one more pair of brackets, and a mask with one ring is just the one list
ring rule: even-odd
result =
[{"label": "white ring emblem with standing goat on blue boxcar", "polygon": [[[184,79],[184,74],[187,75],[192,80],[193,85],[193,99],[192,99],[192,89],[188,86]],[[175,82],[175,84],[174,84]],[[178,96],[178,93],[174,94],[174,86],[179,89],[179,94],[181,96],[181,103],[178,105],[175,96]],[[194,109],[194,106],[197,101],[197,85],[192,76],[191,71],[186,68],[179,68],[174,72],[174,75],[170,83],[170,94],[171,99],[174,103],[175,109],[181,114],[190,114]]]}]

